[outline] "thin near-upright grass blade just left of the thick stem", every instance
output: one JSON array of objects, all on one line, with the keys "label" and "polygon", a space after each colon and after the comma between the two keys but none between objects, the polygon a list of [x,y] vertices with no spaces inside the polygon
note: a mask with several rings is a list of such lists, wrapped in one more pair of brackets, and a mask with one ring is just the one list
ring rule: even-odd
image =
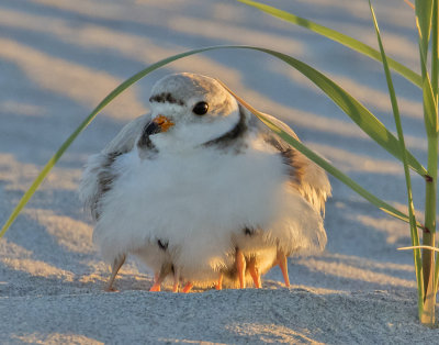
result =
[{"label": "thin near-upright grass blade just left of the thick stem", "polygon": [[375,26],[376,38],[378,38],[378,43],[380,46],[381,57],[383,60],[385,79],[387,81],[389,94],[390,94],[391,102],[392,102],[393,115],[395,119],[396,131],[397,131],[399,144],[401,144],[401,151],[402,151],[402,155],[403,155],[404,175],[405,175],[405,182],[406,182],[406,188],[407,188],[407,204],[408,204],[408,218],[409,218],[409,225],[410,225],[410,237],[412,237],[412,246],[414,248],[413,256],[414,256],[414,263],[415,263],[416,281],[418,285],[418,315],[420,319],[423,315],[423,312],[424,312],[424,294],[425,294],[424,293],[424,277],[423,277],[423,260],[421,260],[420,249],[419,249],[419,235],[418,235],[418,231],[416,227],[415,207],[413,203],[410,171],[408,169],[404,132],[403,132],[403,125],[401,123],[399,108],[397,104],[395,88],[393,87],[392,75],[391,75],[391,70],[389,68],[389,64],[387,64],[387,57],[384,52],[384,45],[381,40],[381,34],[380,34],[380,29],[379,29],[378,22],[376,22],[376,16],[375,16],[375,13],[373,11],[373,7],[372,7],[372,3],[370,0],[369,0],[369,7],[371,10],[373,24]]}]

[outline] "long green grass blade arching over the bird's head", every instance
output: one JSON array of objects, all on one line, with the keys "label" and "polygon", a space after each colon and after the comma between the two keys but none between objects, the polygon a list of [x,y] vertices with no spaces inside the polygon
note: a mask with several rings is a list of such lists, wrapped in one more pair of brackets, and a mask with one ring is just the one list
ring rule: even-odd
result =
[{"label": "long green grass blade arching over the bird's head", "polygon": [[[12,211],[11,215],[4,223],[1,229],[0,237],[4,235],[8,229],[11,226],[13,221],[20,214],[21,210],[32,198],[36,189],[43,182],[47,174],[52,170],[54,165],[58,162],[58,159],[63,156],[66,149],[71,145],[71,143],[76,140],[76,137],[90,124],[90,122],[95,118],[95,115],[106,107],[115,97],[117,97],[121,92],[132,86],[134,82],[138,81],[140,78],[145,77],[153,70],[156,70],[159,67],[162,67],[167,64],[170,64],[177,59],[199,54],[202,52],[214,51],[214,49],[224,49],[224,48],[235,48],[235,49],[252,49],[263,52],[271,56],[274,56],[288,65],[294,67],[299,71],[301,71],[304,76],[306,76],[311,81],[313,81],[318,88],[320,88],[337,105],[339,105],[369,136],[371,136],[375,142],[378,142],[381,146],[383,146],[387,152],[394,155],[396,158],[402,160],[401,149],[398,140],[359,101],[357,101],[352,96],[350,96],[347,91],[345,91],[337,84],[331,81],[329,78],[312,68],[311,66],[302,63],[291,56],[285,54],[266,49],[256,46],[212,46],[205,48],[193,49],[189,52],[184,52],[181,54],[177,54],[165,58],[151,66],[140,70],[135,74],[131,78],[126,79],[120,86],[117,86],[112,92],[110,92],[99,104],[98,107],[87,116],[87,119],[75,130],[75,132],[66,140],[65,143],[60,146],[60,148],[55,153],[55,155],[48,160],[48,163],[44,166],[42,171],[38,174],[36,179],[33,181],[30,189],[24,193],[22,199],[19,201],[19,204]],[[426,169],[419,164],[419,162],[407,152],[407,160],[409,166],[421,176],[425,176]],[[389,208],[384,208],[389,209]],[[389,209],[390,210],[390,209]],[[393,211],[392,211],[393,212]],[[395,212],[393,212],[395,213]],[[395,213],[397,214],[397,212]],[[399,215],[401,218],[401,215]],[[407,216],[403,216],[407,219]]]}]

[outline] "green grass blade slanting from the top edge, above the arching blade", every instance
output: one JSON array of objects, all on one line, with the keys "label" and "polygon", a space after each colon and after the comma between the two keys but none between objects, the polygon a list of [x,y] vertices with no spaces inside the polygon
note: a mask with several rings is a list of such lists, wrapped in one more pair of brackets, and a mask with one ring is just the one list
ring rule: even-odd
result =
[{"label": "green grass blade slanting from the top edge, above the arching blade", "polygon": [[[251,5],[254,8],[257,8],[268,14],[271,14],[275,18],[282,19],[284,21],[288,21],[292,24],[295,25],[300,25],[304,29],[311,30],[319,35],[323,35],[329,40],[333,40],[335,42],[338,42],[356,52],[359,52],[365,56],[369,56],[375,60],[381,62],[381,54],[379,51],[372,48],[371,46],[356,40],[352,38],[348,35],[345,35],[338,31],[335,31],[333,29],[323,26],[320,24],[317,24],[315,22],[312,22],[307,19],[297,16],[293,13],[286,12],[286,11],[282,11],[279,10],[277,8],[273,8],[271,5],[268,4],[263,4],[261,2],[257,2],[257,1],[252,1],[252,0],[237,0],[239,2],[243,2],[245,4]],[[421,0],[423,1],[423,0]],[[418,86],[418,87],[423,87],[423,79],[421,77],[416,74],[415,71],[413,71],[412,69],[409,69],[408,67],[399,64],[398,62],[389,58],[389,66],[395,70],[396,73],[398,73],[399,75],[402,75],[404,78],[406,78],[407,80],[412,81],[414,85]]]}]

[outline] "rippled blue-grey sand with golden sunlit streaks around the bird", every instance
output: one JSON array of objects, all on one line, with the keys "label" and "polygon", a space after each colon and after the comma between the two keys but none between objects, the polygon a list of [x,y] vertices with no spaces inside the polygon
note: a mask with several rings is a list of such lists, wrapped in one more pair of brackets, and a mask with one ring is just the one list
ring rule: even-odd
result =
[{"label": "rippled blue-grey sand with golden sunlit streaks around the bird", "polygon": [[[378,1],[376,1],[378,2]],[[376,46],[367,1],[272,1]],[[413,10],[376,3],[387,53],[418,70]],[[91,110],[125,78],[182,51],[258,44],[327,74],[394,131],[379,64],[235,1],[2,0],[0,2],[0,222]],[[151,274],[130,260],[116,287],[91,243],[77,197],[81,169],[130,120],[151,85],[175,71],[217,77],[378,197],[405,210],[401,164],[295,70],[261,53],[212,52],[153,73],[102,112],[67,151],[0,240],[2,344],[324,343],[432,344],[417,321],[408,226],[331,178],[324,254],[289,260],[263,289],[147,292]],[[395,76],[409,149],[426,164],[420,92]],[[414,176],[423,210],[424,182]]]}]

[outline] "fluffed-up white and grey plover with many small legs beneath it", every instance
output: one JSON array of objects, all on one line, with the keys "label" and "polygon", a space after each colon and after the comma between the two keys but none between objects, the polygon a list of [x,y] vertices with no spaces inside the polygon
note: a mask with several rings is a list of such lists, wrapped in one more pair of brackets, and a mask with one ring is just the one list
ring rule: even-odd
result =
[{"label": "fluffed-up white and grey plover with many small legs beneath it", "polygon": [[[150,112],[89,157],[79,197],[111,265],[128,255],[154,271],[150,291],[261,287],[261,275],[327,242],[324,169],[268,130],[211,77],[158,80]],[[285,123],[270,121],[297,138]]]}]

